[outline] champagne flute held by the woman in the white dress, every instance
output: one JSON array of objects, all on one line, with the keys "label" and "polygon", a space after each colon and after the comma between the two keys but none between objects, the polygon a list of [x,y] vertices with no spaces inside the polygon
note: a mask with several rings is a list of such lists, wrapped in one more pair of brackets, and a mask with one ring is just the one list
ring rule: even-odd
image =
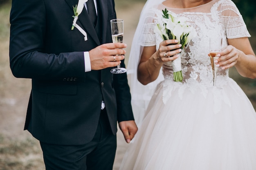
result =
[{"label": "champagne flute held by the woman in the white dress", "polygon": [[210,45],[211,68],[213,72],[213,87],[216,87],[218,67],[216,67],[214,60],[219,58],[219,57],[216,57],[216,55],[221,51],[222,38],[219,36],[210,38],[209,45]]}]

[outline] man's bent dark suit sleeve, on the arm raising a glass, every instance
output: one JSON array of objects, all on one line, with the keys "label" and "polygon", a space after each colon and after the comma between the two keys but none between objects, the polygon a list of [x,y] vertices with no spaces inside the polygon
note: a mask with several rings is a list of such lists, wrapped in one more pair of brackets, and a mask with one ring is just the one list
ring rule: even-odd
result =
[{"label": "man's bent dark suit sleeve, on the arm raising a glass", "polygon": [[9,56],[13,75],[37,79],[83,76],[83,52],[45,51],[47,15],[42,0],[12,1]]}]

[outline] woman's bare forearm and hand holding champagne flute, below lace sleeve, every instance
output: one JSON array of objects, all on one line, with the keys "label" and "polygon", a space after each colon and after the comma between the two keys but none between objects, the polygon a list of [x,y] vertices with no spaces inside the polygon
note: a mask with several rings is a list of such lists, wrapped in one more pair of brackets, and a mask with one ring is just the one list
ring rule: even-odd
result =
[{"label": "woman's bare forearm and hand holding champagne flute, below lace sleeve", "polygon": [[[219,67],[222,69],[235,66],[243,77],[256,78],[256,56],[248,38],[228,39],[226,49],[219,58]],[[228,65],[227,65],[228,64]]]}]

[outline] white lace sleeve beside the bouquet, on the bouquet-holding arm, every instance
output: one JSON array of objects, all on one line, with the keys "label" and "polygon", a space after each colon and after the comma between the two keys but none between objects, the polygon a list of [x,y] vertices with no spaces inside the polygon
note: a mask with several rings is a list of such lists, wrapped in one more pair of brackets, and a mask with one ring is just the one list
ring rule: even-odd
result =
[{"label": "white lace sleeve beside the bouquet, on the bouquet-holding arm", "polygon": [[155,23],[154,23],[154,13],[148,12],[147,18],[143,25],[143,31],[141,33],[141,46],[155,46],[156,38],[155,38]]}]

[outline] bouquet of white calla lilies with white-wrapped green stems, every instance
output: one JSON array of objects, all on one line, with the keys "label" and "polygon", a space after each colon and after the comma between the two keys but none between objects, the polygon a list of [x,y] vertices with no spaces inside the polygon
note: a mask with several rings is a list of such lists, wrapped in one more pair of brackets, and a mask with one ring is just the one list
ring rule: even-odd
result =
[{"label": "bouquet of white calla lilies with white-wrapped green stems", "polygon": [[[162,18],[160,23],[157,23],[155,32],[158,33],[163,40],[177,39],[178,44],[182,44],[181,49],[195,37],[196,32],[193,26],[186,23],[188,18],[177,17],[175,13],[162,10]],[[183,76],[181,71],[181,58],[178,57],[172,62],[173,66],[173,79],[175,82],[182,82]]]}]

